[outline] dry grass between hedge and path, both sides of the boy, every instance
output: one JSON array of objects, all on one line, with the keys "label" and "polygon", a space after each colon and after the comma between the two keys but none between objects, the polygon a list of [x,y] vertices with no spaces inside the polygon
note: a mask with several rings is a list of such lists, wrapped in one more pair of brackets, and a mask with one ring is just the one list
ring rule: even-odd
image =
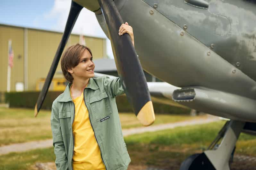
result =
[{"label": "dry grass between hedge and path, both sides of the boy", "polygon": [[[0,108],[0,146],[52,138],[50,110],[40,110],[37,118],[33,109]],[[206,116],[159,115],[153,125],[196,119]],[[142,127],[133,113],[120,113],[122,128]]]}]

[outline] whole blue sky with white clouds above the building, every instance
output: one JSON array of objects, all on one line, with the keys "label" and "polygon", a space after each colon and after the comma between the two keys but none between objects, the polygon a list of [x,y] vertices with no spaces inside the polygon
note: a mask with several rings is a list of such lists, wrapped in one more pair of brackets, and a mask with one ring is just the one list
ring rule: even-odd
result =
[{"label": "whole blue sky with white clouds above the building", "polygon": [[[71,0],[0,0],[0,24],[63,32]],[[111,44],[93,12],[83,8],[72,33],[107,39],[107,55],[113,57]]]}]

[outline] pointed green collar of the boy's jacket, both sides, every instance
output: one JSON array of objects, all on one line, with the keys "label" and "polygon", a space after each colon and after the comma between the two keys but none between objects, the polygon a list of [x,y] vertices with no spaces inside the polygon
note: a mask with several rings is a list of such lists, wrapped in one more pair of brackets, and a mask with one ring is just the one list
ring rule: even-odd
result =
[{"label": "pointed green collar of the boy's jacket, both sides", "polygon": [[[60,96],[58,101],[61,101],[61,102],[72,101],[72,98],[71,98],[71,95],[70,95],[70,86],[71,85],[72,85],[72,83],[68,83],[68,85],[66,86],[66,88],[63,92],[63,95]],[[89,79],[89,83],[88,83],[86,88],[90,88],[92,90],[99,89],[98,85],[96,84],[96,82],[93,78]]]}]

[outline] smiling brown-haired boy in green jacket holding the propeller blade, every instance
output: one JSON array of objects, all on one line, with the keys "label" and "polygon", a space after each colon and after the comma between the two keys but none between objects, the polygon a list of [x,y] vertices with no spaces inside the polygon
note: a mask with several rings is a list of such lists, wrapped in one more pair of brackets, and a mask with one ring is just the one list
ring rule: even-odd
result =
[{"label": "smiling brown-haired boy in green jacket holding the propeller blade", "polygon": [[[126,22],[119,36],[132,27]],[[69,81],[52,105],[51,128],[57,170],[126,170],[128,155],[115,96],[123,94],[119,77],[94,77],[90,49],[73,45],[64,52],[61,68]]]}]

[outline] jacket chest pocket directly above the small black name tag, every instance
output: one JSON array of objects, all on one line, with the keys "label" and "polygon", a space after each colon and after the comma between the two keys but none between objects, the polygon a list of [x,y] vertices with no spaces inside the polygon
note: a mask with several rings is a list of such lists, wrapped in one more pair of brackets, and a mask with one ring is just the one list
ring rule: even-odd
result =
[{"label": "jacket chest pocket directly above the small black name tag", "polygon": [[96,119],[102,119],[112,113],[110,103],[106,92],[102,92],[97,96],[89,99],[93,116]]}]

